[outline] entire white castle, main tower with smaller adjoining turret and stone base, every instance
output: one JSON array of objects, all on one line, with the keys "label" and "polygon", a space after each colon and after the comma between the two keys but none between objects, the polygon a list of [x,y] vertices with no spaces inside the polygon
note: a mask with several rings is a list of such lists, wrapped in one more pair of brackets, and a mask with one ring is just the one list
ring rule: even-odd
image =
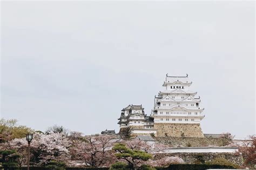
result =
[{"label": "entire white castle, main tower with smaller adjoining turret and stone base", "polygon": [[189,90],[191,84],[188,75],[177,77],[166,74],[165,90],[154,97],[151,115],[144,113],[142,105],[123,108],[118,119],[119,133],[130,126],[134,134],[203,138],[200,121],[204,118],[204,108],[200,106],[200,97],[195,97],[197,92]]}]

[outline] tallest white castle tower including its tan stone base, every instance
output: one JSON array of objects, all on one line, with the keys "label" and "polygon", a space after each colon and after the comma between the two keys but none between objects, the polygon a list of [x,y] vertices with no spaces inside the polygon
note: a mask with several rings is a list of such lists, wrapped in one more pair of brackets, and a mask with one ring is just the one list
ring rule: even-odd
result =
[{"label": "tallest white castle tower including its tan stone base", "polygon": [[204,137],[200,127],[204,108],[200,106],[200,97],[195,97],[197,92],[189,90],[191,84],[188,75],[176,77],[166,74],[165,90],[155,96],[151,113],[158,136]]}]

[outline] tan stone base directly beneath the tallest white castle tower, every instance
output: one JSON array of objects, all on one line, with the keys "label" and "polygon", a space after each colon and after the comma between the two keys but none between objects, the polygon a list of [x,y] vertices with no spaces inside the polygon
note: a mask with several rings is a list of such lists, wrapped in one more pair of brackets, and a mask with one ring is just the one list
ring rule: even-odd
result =
[{"label": "tan stone base directly beneath the tallest white castle tower", "polygon": [[157,130],[158,137],[193,137],[204,138],[200,124],[171,124],[171,123],[154,123],[154,130]]}]

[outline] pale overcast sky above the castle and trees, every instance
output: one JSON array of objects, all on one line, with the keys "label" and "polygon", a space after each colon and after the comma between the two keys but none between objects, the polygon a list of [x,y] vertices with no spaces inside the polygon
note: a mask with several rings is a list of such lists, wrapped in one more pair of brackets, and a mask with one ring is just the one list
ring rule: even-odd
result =
[{"label": "pale overcast sky above the castle and trees", "polygon": [[1,117],[119,131],[165,74],[193,81],[204,133],[255,134],[254,2],[3,2]]}]

